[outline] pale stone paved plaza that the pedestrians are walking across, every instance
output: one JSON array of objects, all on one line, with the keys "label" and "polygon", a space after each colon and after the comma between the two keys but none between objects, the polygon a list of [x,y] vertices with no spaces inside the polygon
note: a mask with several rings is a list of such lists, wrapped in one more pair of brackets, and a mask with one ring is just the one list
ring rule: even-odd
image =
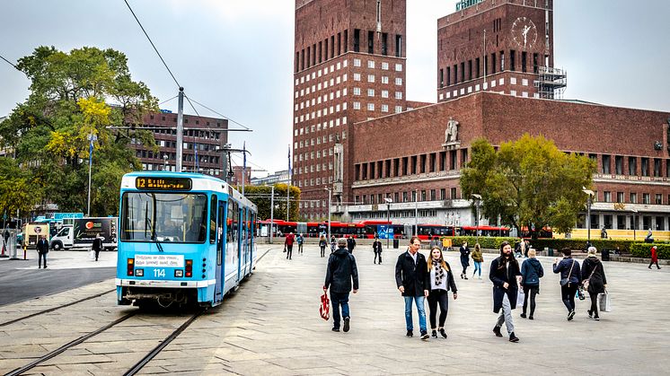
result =
[{"label": "pale stone paved plaza that the pedestrians are walking across", "polygon": [[[539,258],[545,269],[533,321],[514,310],[517,344],[493,335],[488,267],[493,254],[484,254],[482,279],[462,280],[457,252],[446,253],[454,267],[458,299],[450,297],[445,325],[447,339],[405,337],[404,304],[394,282],[394,265],[400,251],[384,249],[383,264],[373,264],[372,249],[357,247],[360,290],[350,295],[351,330],[331,332],[332,322],[319,316],[320,295],[327,258],[305,245],[304,254],[292,260],[278,245],[261,245],[260,260],[251,279],[242,284],[222,307],[184,331],[142,370],[142,373],[186,374],[667,374],[670,373],[670,268],[649,270],[646,265],[605,262],[613,312],[600,321],[586,316],[589,305],[577,302],[577,315],[566,320],[560,302],[559,277],[551,273],[553,258]],[[427,250],[422,250],[427,254]],[[73,252],[75,253],[75,252]],[[66,254],[63,253],[65,256]],[[110,254],[104,254],[109,256]],[[84,253],[67,256],[68,262],[85,261]],[[105,263],[108,263],[106,260]],[[104,264],[103,264],[104,265]],[[39,272],[39,270],[35,270]],[[472,276],[472,267],[470,270]],[[40,300],[0,307],[0,321],[25,315],[49,304],[70,302],[78,296],[113,288],[113,279],[50,295]],[[451,294],[450,294],[451,295]],[[66,343],[73,328],[63,320],[93,318],[87,329],[101,326],[134,308],[115,305],[114,294],[102,295],[85,308],[74,305],[30,321],[0,328],[0,372],[27,363],[28,358]],[[427,306],[428,309],[428,306]],[[85,312],[85,314],[84,314]],[[75,313],[73,315],[73,313]],[[152,317],[146,319],[162,319]],[[174,314],[164,323],[172,325]],[[77,321],[78,322],[78,321]],[[128,324],[129,325],[129,324]],[[155,325],[155,324],[152,324]],[[137,326],[136,326],[137,327]],[[40,335],[35,334],[40,329]],[[38,330],[39,331],[39,330]],[[419,327],[415,312],[415,333]],[[134,343],[120,335],[80,345],[70,356],[54,358],[35,369],[44,374],[119,374],[128,364]],[[156,336],[160,337],[160,336]],[[154,338],[155,340],[155,338]],[[22,354],[24,352],[24,354]],[[127,354],[128,353],[128,354]],[[132,365],[132,363],[130,363]]]}]

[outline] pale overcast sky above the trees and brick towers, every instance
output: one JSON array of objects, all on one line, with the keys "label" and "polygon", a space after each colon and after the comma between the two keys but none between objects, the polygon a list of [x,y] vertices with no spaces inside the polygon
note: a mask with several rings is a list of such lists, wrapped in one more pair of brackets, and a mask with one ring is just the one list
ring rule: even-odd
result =
[{"label": "pale overcast sky above the trees and brick towers", "polygon": [[[253,129],[254,169],[286,169],[293,107],[294,0],[130,0],[190,98]],[[407,98],[436,101],[436,20],[455,0],[407,0]],[[555,66],[564,98],[670,111],[670,2],[555,0]],[[40,45],[115,48],[159,101],[177,87],[123,0],[0,0],[0,55],[15,62]],[[0,116],[29,81],[0,61]],[[176,111],[176,100],[161,105]],[[217,117],[196,108],[203,116]],[[190,108],[186,113],[194,114]],[[631,124],[634,123],[631,121]],[[234,162],[242,163],[241,159]],[[265,172],[254,173],[264,176]]]}]

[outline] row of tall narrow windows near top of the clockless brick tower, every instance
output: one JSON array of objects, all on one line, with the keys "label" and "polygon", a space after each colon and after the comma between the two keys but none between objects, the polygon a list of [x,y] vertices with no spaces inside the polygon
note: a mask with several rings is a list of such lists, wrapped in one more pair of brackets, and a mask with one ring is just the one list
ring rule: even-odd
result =
[{"label": "row of tall narrow windows near top of the clockless brick tower", "polygon": [[[361,33],[360,29],[354,29],[354,52],[361,52],[361,34],[365,36],[366,32],[363,31],[363,33]],[[375,31],[367,31],[366,51],[368,54],[388,56],[389,34],[383,32],[379,37],[379,46],[375,48]],[[330,38],[323,39],[318,43],[313,43],[312,46],[307,46],[307,48],[301,48],[300,51],[295,51],[295,73],[347,53],[348,42],[348,30],[345,30],[331,35]],[[402,57],[402,36],[400,34],[395,35],[395,57]]]}]

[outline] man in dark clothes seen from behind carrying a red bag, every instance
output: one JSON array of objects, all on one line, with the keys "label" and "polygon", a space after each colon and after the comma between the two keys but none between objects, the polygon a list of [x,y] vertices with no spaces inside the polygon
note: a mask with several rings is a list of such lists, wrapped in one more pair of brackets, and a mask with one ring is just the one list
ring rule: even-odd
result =
[{"label": "man in dark clothes seen from behind carrying a red bag", "polygon": [[351,282],[354,284],[354,293],[358,291],[358,270],[356,258],[347,250],[347,240],[338,240],[338,249],[331,253],[326,268],[326,282],[323,291],[331,288],[332,302],[332,331],[339,332],[339,306],[342,307],[342,318],[344,318],[345,332],[349,331],[349,292]]}]

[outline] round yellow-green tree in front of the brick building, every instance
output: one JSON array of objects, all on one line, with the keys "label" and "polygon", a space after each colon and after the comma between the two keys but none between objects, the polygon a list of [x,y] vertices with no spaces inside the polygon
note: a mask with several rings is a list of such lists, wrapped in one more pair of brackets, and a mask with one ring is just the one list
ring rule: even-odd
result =
[{"label": "round yellow-green tree in front of the brick building", "polygon": [[[472,143],[472,159],[463,169],[463,197],[480,194],[483,214],[536,231],[551,226],[570,232],[584,209],[583,188],[593,184],[595,162],[563,153],[542,136],[524,135],[496,151],[486,140]],[[533,237],[535,233],[533,233]]]}]

